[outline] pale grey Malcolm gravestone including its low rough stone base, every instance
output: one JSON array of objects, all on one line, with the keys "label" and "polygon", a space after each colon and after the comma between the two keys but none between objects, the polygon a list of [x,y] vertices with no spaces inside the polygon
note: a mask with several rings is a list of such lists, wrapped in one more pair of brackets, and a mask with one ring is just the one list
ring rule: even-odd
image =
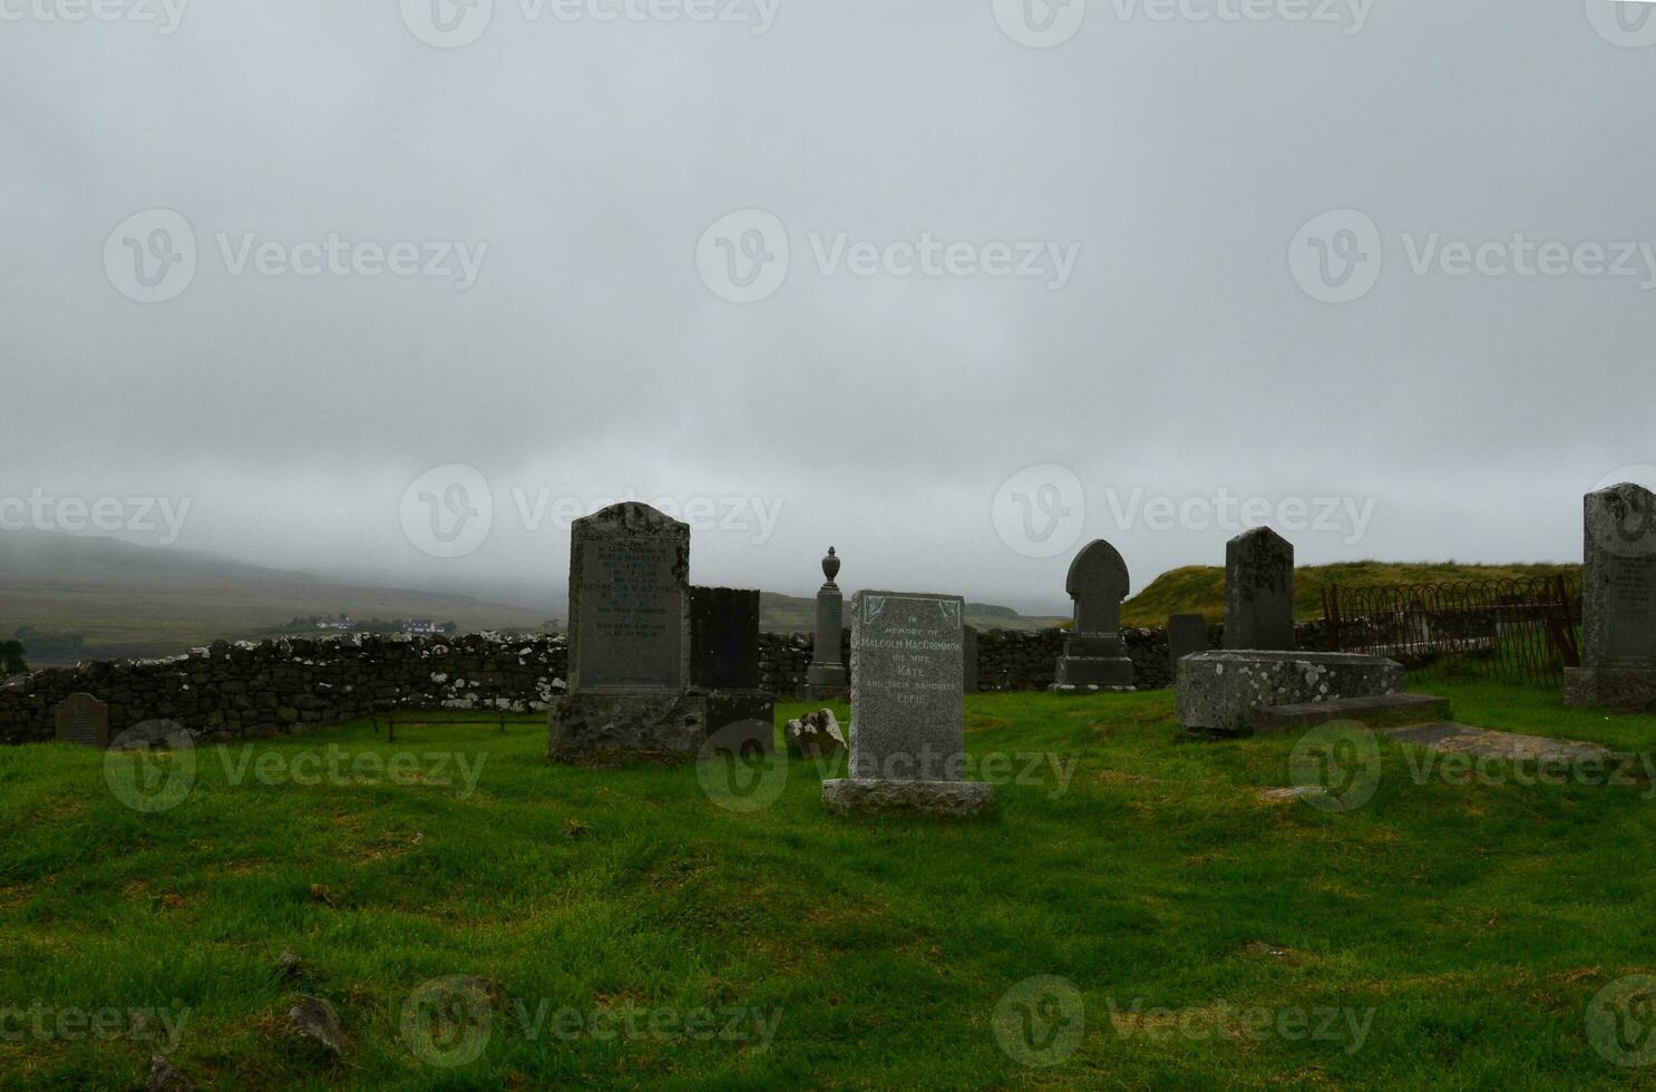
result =
[{"label": "pale grey Malcolm gravestone including its low rough stone base", "polygon": [[994,785],[965,772],[965,679],[957,595],[851,598],[851,767],[823,782],[835,814],[974,815]]}]

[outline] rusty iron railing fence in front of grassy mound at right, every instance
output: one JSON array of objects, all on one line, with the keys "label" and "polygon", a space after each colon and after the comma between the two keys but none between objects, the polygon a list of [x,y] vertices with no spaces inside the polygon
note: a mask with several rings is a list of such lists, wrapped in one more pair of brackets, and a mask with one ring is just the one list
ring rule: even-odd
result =
[{"label": "rusty iron railing fence in front of grassy mound at right", "polygon": [[1581,664],[1578,577],[1323,588],[1328,648],[1477,678],[1562,684]]}]

